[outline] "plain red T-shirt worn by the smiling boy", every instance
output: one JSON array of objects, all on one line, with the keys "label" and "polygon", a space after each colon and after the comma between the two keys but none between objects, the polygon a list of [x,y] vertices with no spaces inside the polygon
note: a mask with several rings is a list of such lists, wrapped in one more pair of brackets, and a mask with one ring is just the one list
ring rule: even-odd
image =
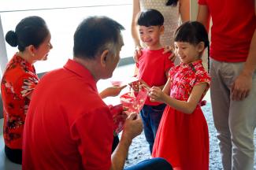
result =
[{"label": "plain red T-shirt worn by the smiling boy", "polygon": [[[160,50],[142,50],[142,55],[139,57],[137,67],[139,68],[138,78],[143,79],[148,86],[160,87],[165,85],[167,78],[165,72],[174,64],[169,60],[170,54],[162,54],[164,49]],[[150,102],[147,98],[145,105],[159,105],[158,102]]]}]

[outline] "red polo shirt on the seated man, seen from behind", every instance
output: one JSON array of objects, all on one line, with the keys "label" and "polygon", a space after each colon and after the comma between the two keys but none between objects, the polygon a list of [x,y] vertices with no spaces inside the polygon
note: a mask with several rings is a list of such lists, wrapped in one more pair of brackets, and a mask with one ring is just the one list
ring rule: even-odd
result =
[{"label": "red polo shirt on the seated man, seen from behind", "polygon": [[46,73],[24,127],[22,169],[108,169],[113,117],[91,73],[76,61]]}]

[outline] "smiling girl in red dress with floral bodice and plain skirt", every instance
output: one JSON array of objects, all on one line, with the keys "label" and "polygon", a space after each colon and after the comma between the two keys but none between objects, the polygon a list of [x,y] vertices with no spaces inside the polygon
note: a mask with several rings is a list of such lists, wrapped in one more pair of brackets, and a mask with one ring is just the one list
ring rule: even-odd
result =
[{"label": "smiling girl in red dress with floral bodice and plain skirt", "polygon": [[153,101],[167,106],[158,127],[152,157],[164,157],[174,169],[209,169],[209,134],[200,103],[210,86],[202,66],[202,53],[209,46],[207,31],[197,21],[176,30],[175,47],[180,65],[169,71],[161,91],[150,89]]}]

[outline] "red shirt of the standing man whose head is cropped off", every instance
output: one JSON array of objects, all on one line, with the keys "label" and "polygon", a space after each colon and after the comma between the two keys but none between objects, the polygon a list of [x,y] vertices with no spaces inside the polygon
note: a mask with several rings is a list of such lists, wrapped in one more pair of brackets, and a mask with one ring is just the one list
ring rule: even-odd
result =
[{"label": "red shirt of the standing man whose head is cropped off", "polygon": [[198,0],[213,20],[210,57],[217,61],[246,61],[256,28],[254,1]]}]

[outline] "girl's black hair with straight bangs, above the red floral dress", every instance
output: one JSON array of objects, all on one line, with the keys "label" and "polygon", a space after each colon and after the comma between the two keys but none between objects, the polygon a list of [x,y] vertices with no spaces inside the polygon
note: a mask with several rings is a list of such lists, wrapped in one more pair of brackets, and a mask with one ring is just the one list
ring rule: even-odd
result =
[{"label": "girl's black hair with straight bangs, above the red floral dress", "polygon": [[181,24],[174,33],[175,42],[189,42],[197,45],[199,42],[204,42],[205,48],[208,47],[208,69],[210,66],[209,61],[209,46],[208,33],[203,24],[198,21],[187,21]]}]

